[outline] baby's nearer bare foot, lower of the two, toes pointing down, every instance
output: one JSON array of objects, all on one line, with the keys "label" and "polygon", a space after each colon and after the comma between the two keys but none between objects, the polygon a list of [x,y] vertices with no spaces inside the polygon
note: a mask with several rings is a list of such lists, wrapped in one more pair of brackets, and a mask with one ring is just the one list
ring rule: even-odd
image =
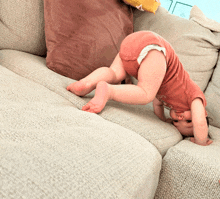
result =
[{"label": "baby's nearer bare foot, lower of the two, toes pointing down", "polygon": [[96,86],[95,96],[82,107],[83,111],[90,113],[100,113],[109,100],[109,87],[104,81],[99,82]]}]

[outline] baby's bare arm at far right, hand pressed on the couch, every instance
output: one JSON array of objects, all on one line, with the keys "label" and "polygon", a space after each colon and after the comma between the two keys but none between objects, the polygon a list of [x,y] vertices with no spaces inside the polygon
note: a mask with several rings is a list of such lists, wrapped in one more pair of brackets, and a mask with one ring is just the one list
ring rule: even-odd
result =
[{"label": "baby's bare arm at far right, hand pressed on the couch", "polygon": [[199,145],[209,145],[212,143],[208,139],[208,125],[206,122],[205,108],[200,98],[193,100],[191,104],[192,123],[193,123],[193,142]]}]

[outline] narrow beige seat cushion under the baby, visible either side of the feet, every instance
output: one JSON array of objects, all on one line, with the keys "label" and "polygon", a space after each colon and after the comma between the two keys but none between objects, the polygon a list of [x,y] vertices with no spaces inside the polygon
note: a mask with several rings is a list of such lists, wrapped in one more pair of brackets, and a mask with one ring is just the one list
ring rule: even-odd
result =
[{"label": "narrow beige seat cushion under the baby, visible either side of the feet", "polygon": [[[81,109],[94,95],[93,92],[80,98],[68,92],[66,86],[74,80],[49,70],[43,58],[10,50],[1,51],[0,58],[0,64],[61,95],[78,109]],[[110,101],[99,115],[140,134],[156,146],[161,155],[165,155],[171,146],[182,140],[181,134],[173,125],[157,118],[152,111],[152,105],[132,106]]]}]

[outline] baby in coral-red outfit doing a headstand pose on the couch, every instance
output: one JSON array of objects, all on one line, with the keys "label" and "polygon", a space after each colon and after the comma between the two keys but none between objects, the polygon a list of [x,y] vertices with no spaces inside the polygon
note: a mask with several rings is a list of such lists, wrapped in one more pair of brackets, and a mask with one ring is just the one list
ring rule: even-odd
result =
[{"label": "baby in coral-red outfit doing a headstand pose on the couch", "polygon": [[[120,84],[128,74],[138,80],[137,85]],[[140,105],[153,101],[154,113],[162,121],[173,123],[184,136],[194,136],[191,141],[196,144],[212,143],[203,92],[190,79],[172,46],[156,33],[130,34],[110,68],[98,68],[67,90],[84,96],[95,88],[94,98],[83,111],[99,113],[108,100]],[[164,106],[170,109],[172,119],[165,118]]]}]

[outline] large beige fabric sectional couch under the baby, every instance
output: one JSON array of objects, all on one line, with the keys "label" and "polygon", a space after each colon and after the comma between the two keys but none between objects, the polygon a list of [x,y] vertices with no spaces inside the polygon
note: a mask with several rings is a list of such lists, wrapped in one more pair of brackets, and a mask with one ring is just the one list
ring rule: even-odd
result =
[{"label": "large beige fabric sectional couch under the baby", "polygon": [[73,80],[46,67],[43,1],[0,7],[0,198],[220,198],[220,24],[135,11],[134,28],[174,46],[205,91],[213,143],[183,140],[152,104],[81,111]]}]

